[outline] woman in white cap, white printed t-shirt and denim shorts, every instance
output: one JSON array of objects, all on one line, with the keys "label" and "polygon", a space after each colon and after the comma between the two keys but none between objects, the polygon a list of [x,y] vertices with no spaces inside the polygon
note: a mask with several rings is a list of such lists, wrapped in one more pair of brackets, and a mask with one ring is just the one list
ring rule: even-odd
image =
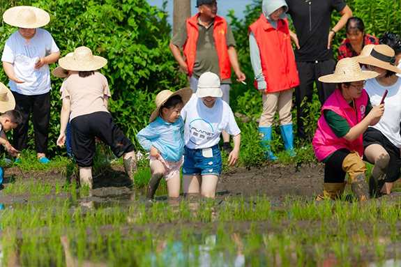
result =
[{"label": "woman in white cap, white printed t-shirt and denim shorts", "polygon": [[183,163],[183,192],[199,193],[204,197],[215,197],[218,178],[221,175],[222,159],[218,142],[225,130],[233,136],[234,149],[229,153],[229,166],[239,158],[241,130],[229,105],[220,97],[220,78],[214,73],[199,77],[197,93],[192,95],[182,109],[186,120]]}]

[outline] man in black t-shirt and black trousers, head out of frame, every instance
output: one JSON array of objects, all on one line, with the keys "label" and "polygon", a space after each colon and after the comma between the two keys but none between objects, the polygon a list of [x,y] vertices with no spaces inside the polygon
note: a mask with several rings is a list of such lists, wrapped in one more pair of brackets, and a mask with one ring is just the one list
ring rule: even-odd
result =
[{"label": "man in black t-shirt and black trousers, head out of frame", "polygon": [[[308,106],[305,104],[312,102],[314,82],[321,105],[333,93],[335,84],[323,84],[317,78],[333,73],[335,60],[331,40],[345,26],[349,17],[352,17],[352,11],[343,0],[286,2],[296,31],[291,31],[290,36],[296,46],[295,61],[300,82],[295,89],[298,137],[308,139],[311,132],[305,132],[304,119],[308,116]],[[330,29],[333,10],[337,10],[341,18]]]}]

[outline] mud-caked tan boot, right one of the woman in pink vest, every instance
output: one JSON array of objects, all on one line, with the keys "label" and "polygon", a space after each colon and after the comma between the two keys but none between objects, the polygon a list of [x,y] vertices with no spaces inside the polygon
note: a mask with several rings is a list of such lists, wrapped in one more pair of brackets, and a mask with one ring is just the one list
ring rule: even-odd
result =
[{"label": "mud-caked tan boot, right one of the woman in pink vest", "polygon": [[351,189],[359,201],[370,199],[368,184],[366,183],[366,166],[361,156],[356,151],[352,151],[342,161],[342,169],[351,178]]}]

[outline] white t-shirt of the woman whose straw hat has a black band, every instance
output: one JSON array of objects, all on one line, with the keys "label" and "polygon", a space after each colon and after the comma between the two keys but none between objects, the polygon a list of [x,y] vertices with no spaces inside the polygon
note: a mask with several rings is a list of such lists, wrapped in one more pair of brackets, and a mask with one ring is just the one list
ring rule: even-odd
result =
[{"label": "white t-shirt of the woman whose straw hat has a black band", "polygon": [[400,121],[401,121],[401,78],[392,86],[382,86],[377,80],[366,81],[365,90],[368,92],[372,106],[378,106],[384,91],[388,90],[384,99],[384,114],[373,127],[385,135],[388,140],[398,148],[401,147]]}]

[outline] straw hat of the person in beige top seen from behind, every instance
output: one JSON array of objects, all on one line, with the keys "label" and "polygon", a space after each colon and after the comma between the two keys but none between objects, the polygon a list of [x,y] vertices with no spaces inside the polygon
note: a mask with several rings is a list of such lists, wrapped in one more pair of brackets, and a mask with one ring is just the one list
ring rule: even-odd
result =
[{"label": "straw hat of the person in beige top seen from behind", "polygon": [[102,56],[93,56],[88,47],[77,47],[73,56],[64,56],[59,59],[59,65],[64,70],[91,71],[103,68],[107,64],[107,59]]}]

